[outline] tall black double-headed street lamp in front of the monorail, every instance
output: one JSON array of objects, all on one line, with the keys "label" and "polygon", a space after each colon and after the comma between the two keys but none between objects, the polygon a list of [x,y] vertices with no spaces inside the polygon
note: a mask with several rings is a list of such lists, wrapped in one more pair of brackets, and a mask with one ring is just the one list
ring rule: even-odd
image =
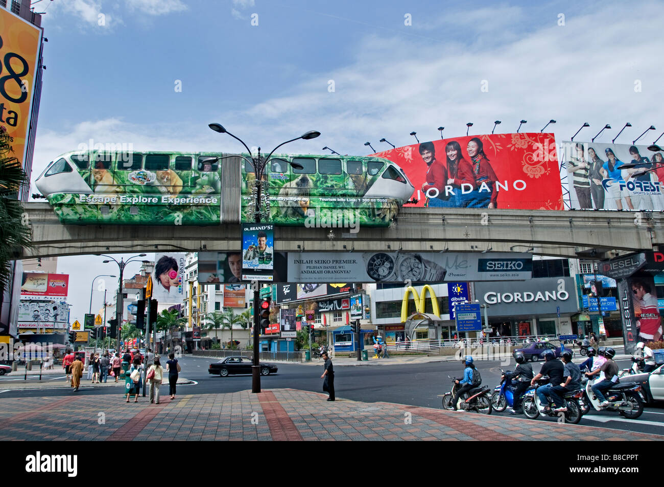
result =
[{"label": "tall black double-headed street lamp in front of the monorail", "polygon": [[[256,175],[256,201],[255,201],[255,206],[254,206],[254,223],[261,223],[261,209],[262,209],[262,201],[261,201],[261,190],[262,190],[262,180],[263,180],[263,171],[268,164],[268,161],[270,160],[270,157],[272,157],[272,154],[276,149],[279,147],[283,146],[284,144],[288,144],[289,142],[294,142],[295,140],[303,139],[303,140],[311,140],[317,138],[319,135],[321,135],[320,132],[316,132],[315,130],[310,130],[309,132],[305,132],[301,136],[287,140],[286,142],[282,142],[278,146],[274,147],[272,151],[268,154],[268,157],[265,157],[264,159],[260,157],[260,147],[258,147],[258,156],[254,157],[251,153],[251,150],[249,147],[244,144],[244,141],[242,141],[240,138],[237,138],[230,132],[228,132],[224,126],[221,124],[209,124],[208,127],[210,127],[214,132],[218,132],[219,134],[228,134],[235,140],[238,140],[240,144],[244,146],[245,149],[247,149],[247,152],[249,153],[249,157],[251,159],[248,159],[247,157],[242,157],[245,161],[250,163],[250,165],[254,168],[254,174]],[[226,157],[234,157],[234,156],[226,156]],[[226,157],[220,157],[220,159],[225,159]],[[288,162],[293,169],[304,169],[304,167],[301,164],[294,163],[294,162]],[[269,218],[269,214],[268,214]],[[258,290],[258,286],[254,286],[254,364],[252,365],[252,393],[260,393],[260,357],[259,357],[259,343],[258,343],[258,333],[259,333],[259,320],[260,320],[260,309],[258,308],[258,301],[260,300],[260,291]]]}]

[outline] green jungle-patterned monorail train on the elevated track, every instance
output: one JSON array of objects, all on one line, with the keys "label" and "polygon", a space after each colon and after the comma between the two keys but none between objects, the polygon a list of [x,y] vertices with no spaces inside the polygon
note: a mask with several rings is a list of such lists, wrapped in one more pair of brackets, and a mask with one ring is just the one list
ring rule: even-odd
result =
[{"label": "green jungle-patterned monorail train on the elevated track", "polygon": [[[49,163],[35,185],[62,223],[251,222],[256,177],[242,157],[250,155],[72,151]],[[380,157],[273,155],[264,181],[269,223],[289,226],[385,227],[414,191],[403,169]]]}]

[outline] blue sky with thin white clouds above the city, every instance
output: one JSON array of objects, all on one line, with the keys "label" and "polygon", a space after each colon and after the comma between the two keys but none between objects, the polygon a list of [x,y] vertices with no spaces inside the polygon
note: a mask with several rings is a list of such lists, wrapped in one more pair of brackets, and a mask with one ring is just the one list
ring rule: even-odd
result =
[{"label": "blue sky with thin white clouds above the city", "polygon": [[[590,128],[578,140],[604,124],[613,129],[600,142],[625,122],[633,127],[618,142],[651,124],[658,130],[643,143],[664,130],[664,9],[656,1],[44,0],[35,7],[46,9],[48,43],[33,178],[90,138],[137,150],[240,150],[210,122],[264,151],[319,130],[321,137],[288,151],[329,146],[351,154],[366,154],[366,141],[388,148],[382,137],[410,144],[413,130],[420,140],[438,138],[438,126],[446,136],[465,134],[466,122],[471,134],[491,132],[494,120],[503,122],[497,132],[515,132],[521,119],[528,120],[522,132],[539,132],[553,118],[558,142],[584,122]],[[412,25],[404,25],[406,14]],[[58,270],[94,275],[96,260],[61,258]],[[104,272],[102,264],[95,274]]]}]

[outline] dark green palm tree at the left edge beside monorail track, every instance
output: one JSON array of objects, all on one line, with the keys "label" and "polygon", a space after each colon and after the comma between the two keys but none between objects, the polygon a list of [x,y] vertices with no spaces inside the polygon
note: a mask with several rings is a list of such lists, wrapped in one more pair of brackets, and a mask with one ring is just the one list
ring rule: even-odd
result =
[{"label": "dark green palm tree at the left edge beside monorail track", "polygon": [[[13,278],[11,261],[30,247],[32,233],[25,225],[23,205],[18,200],[21,185],[29,184],[29,177],[21,167],[21,161],[13,157],[11,142],[5,127],[0,127],[0,295]],[[0,304],[1,306],[1,304]]]}]

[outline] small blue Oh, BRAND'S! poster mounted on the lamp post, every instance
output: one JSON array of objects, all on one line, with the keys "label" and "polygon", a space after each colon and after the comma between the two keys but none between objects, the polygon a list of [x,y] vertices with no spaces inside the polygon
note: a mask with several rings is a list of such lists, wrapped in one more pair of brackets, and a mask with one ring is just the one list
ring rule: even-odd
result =
[{"label": "small blue Oh, BRAND'S! poster mounted on the lamp post", "polygon": [[242,279],[272,281],[274,225],[242,225]]}]

